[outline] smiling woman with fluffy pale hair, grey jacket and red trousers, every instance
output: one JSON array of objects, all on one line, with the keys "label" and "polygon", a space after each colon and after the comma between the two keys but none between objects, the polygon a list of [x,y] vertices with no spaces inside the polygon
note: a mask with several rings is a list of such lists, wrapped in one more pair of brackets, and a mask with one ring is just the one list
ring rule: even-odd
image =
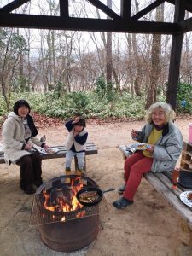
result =
[{"label": "smiling woman with fluffy pale hair, grey jacket and red trousers", "polygon": [[123,196],[113,206],[124,209],[133,204],[133,197],[146,172],[172,171],[183,148],[183,137],[173,124],[175,112],[166,102],[156,102],[146,115],[147,124],[142,131],[131,131],[139,143],[148,143],[150,148],[136,151],[125,160],[125,184],[119,188]]}]

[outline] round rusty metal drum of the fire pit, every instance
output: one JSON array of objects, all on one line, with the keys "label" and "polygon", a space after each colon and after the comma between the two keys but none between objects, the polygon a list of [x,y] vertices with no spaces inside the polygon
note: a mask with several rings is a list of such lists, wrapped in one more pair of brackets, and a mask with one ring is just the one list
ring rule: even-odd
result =
[{"label": "round rusty metal drum of the fire pit", "polygon": [[[49,180],[49,183],[55,186],[60,183],[61,178],[74,178],[74,175],[56,177]],[[87,180],[89,186],[98,187],[97,184],[88,177],[83,177]],[[46,184],[38,188],[36,194],[42,193]],[[41,239],[49,248],[60,252],[73,252],[83,247],[88,246],[91,241],[96,239],[99,231],[99,207],[95,206],[94,211],[97,214],[84,218],[75,218],[66,222],[55,222],[42,224],[38,226],[41,234]]]}]

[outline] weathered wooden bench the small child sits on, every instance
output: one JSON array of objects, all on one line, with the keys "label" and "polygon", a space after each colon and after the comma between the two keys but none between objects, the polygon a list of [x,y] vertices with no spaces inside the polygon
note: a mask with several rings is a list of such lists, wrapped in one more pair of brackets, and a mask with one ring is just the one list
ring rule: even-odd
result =
[{"label": "weathered wooden bench the small child sits on", "polygon": [[[58,148],[59,151],[56,152],[55,154],[40,154],[42,160],[66,157],[67,149],[65,146],[51,146],[51,148]],[[94,143],[86,143],[84,170],[86,169],[86,155],[90,155],[90,154],[98,154],[96,145]],[[75,160],[75,170],[77,170],[77,159],[74,158],[74,160]],[[4,155],[1,154],[0,164],[3,164],[4,162],[5,162]]]}]

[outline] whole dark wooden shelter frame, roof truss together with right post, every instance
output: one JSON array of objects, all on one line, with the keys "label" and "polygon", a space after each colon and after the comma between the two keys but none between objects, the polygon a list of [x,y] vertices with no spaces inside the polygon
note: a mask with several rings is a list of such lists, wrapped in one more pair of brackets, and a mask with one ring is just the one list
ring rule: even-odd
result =
[{"label": "whole dark wooden shelter frame, roof truss together with right post", "polygon": [[[176,108],[183,33],[192,31],[192,18],[185,20],[185,12],[192,13],[192,0],[154,0],[153,3],[148,4],[135,15],[131,15],[131,0],[120,0],[120,14],[115,13],[113,9],[108,8],[100,0],[87,0],[87,2],[108,15],[108,19],[72,17],[69,15],[69,0],[59,0],[59,16],[12,13],[27,2],[30,2],[30,0],[14,0],[3,6],[0,9],[0,27],[172,34],[166,102],[169,102],[172,108]],[[172,22],[139,20],[164,2],[175,5],[174,20]]]}]

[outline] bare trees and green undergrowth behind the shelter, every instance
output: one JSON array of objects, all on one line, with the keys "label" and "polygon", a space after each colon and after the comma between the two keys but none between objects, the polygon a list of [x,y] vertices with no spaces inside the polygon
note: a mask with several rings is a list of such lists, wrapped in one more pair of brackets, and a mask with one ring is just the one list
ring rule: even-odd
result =
[{"label": "bare trees and green undergrowth behind the shelter", "polygon": [[[132,1],[131,15],[152,0]],[[0,0],[0,7],[8,0]],[[103,0],[119,14],[120,1]],[[16,12],[59,15],[59,1],[30,1]],[[85,0],[69,0],[69,14],[106,19]],[[163,3],[141,20],[172,21]],[[186,12],[189,17],[189,13]],[[177,112],[192,113],[191,32],[184,35]],[[34,112],[67,119],[143,119],[166,101],[171,35],[0,28],[0,123],[19,98]]]}]

